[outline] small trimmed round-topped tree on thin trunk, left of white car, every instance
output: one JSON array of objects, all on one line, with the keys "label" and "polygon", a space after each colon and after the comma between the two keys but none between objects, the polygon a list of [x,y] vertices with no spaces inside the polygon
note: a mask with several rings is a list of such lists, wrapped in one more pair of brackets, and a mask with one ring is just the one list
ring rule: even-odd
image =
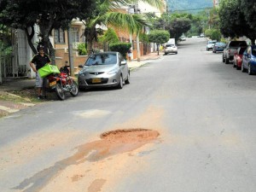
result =
[{"label": "small trimmed round-topped tree on thin trunk, left of white car", "polygon": [[165,44],[170,38],[169,32],[164,30],[154,30],[148,34],[149,42],[155,43],[157,45],[157,55],[159,55],[159,45]]}]

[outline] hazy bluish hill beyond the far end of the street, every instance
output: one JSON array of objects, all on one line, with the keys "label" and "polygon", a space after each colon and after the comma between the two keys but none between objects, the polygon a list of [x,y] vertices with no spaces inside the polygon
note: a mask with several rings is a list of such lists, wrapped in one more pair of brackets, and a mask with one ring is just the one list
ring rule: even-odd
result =
[{"label": "hazy bluish hill beyond the far end of the street", "polygon": [[166,0],[166,3],[170,12],[198,12],[213,7],[213,0]]}]

